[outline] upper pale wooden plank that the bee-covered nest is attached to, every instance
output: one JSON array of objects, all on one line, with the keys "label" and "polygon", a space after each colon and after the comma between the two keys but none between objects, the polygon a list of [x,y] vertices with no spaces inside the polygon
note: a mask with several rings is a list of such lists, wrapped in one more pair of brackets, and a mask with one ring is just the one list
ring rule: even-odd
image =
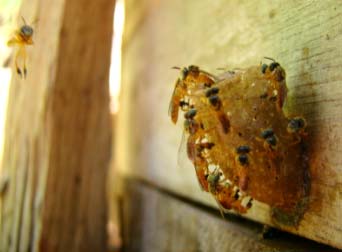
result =
[{"label": "upper pale wooden plank that the bee-covered nest is attached to", "polygon": [[[178,77],[171,67],[196,64],[219,73],[218,67],[273,57],[287,71],[287,112],[307,119],[311,142],[309,209],[297,229],[287,230],[342,248],[341,23],[341,6],[333,0],[128,0],[118,166],[215,205],[200,191],[193,167],[177,165],[182,125],[167,116]],[[270,222],[265,204],[246,216]]]}]

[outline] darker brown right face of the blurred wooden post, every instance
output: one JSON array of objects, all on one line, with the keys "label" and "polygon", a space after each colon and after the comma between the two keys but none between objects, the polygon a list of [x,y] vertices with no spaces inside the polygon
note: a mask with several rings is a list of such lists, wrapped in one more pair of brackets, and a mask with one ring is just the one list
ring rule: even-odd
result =
[{"label": "darker brown right face of the blurred wooden post", "polygon": [[[42,218],[42,251],[106,248],[113,4],[112,0],[65,2],[61,54],[48,111],[51,160]],[[55,198],[50,200],[49,195]]]}]

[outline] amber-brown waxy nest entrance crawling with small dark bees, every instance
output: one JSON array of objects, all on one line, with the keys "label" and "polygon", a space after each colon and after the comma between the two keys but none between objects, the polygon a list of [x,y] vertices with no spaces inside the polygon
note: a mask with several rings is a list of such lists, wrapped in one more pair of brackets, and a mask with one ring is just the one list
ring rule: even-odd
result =
[{"label": "amber-brown waxy nest entrance crawling with small dark bees", "polygon": [[176,80],[169,115],[184,112],[187,156],[221,214],[255,199],[293,215],[308,195],[307,123],[284,114],[285,71],[270,60],[220,77],[191,65]]}]

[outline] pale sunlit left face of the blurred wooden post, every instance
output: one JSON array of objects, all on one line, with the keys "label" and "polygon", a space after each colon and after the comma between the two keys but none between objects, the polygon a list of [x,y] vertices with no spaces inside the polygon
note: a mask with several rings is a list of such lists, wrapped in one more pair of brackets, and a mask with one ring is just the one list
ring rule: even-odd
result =
[{"label": "pale sunlit left face of the blurred wooden post", "polygon": [[[33,26],[35,46],[27,48],[27,78],[21,79],[13,69],[10,86],[2,164],[9,175],[9,183],[2,197],[1,251],[23,251],[31,247],[39,230],[48,159],[48,135],[42,118],[50,72],[44,69],[54,65],[60,29],[58,20],[63,10],[61,1],[46,4],[54,11],[40,15],[37,0],[23,1],[19,13],[29,23],[38,17],[40,22]],[[22,25],[20,18],[17,25]],[[46,29],[45,35],[41,29]],[[38,56],[39,51],[42,53]]]}]

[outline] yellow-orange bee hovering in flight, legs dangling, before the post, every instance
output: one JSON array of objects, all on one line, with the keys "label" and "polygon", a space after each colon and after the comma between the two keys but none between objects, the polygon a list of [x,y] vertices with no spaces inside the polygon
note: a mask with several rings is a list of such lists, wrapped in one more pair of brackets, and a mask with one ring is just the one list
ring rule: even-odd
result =
[{"label": "yellow-orange bee hovering in flight, legs dangling, before the post", "polygon": [[[33,28],[28,25],[25,21],[25,19],[22,17],[22,20],[24,22],[24,25],[20,27],[19,30],[16,30],[12,37],[7,41],[8,46],[15,46],[16,52],[14,55],[14,64],[15,68],[17,70],[17,73],[20,77],[24,78],[27,74],[27,68],[26,68],[26,46],[27,45],[33,45]],[[19,61],[22,60],[23,68],[19,66]]]}]

